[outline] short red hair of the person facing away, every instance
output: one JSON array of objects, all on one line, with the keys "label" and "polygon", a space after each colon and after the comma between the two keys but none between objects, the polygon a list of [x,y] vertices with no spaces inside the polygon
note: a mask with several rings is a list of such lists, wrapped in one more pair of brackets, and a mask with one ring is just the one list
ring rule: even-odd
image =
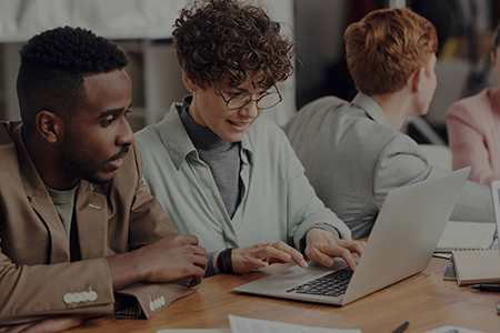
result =
[{"label": "short red hair of the person facing away", "polygon": [[346,57],[356,88],[367,94],[401,90],[438,50],[436,28],[408,8],[381,9],[352,23],[344,33]]}]

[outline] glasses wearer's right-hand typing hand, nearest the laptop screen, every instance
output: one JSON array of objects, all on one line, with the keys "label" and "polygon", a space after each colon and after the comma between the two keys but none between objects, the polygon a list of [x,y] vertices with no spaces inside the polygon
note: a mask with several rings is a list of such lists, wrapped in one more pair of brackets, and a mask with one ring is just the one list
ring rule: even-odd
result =
[{"label": "glasses wearer's right-hand typing hand, nearest the laptop screen", "polygon": [[317,261],[323,266],[331,268],[336,262],[333,258],[342,258],[352,271],[356,270],[356,261],[352,253],[361,255],[366,242],[346,241],[338,239],[331,232],[318,228],[311,229],[306,235],[306,255],[309,260]]}]

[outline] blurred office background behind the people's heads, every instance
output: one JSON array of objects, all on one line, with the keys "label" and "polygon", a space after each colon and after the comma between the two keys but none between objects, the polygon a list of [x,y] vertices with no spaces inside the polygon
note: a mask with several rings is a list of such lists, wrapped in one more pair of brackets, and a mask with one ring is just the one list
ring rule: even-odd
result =
[{"label": "blurred office background behind the people's heads", "polygon": [[[47,29],[72,26],[113,40],[128,56],[133,82],[129,121],[134,131],[161,120],[188,93],[171,47],[172,24],[191,0],[0,0],[0,120],[19,119],[19,50]],[[343,31],[379,8],[409,7],[437,28],[438,88],[428,115],[403,128],[419,143],[447,144],[444,112],[456,100],[496,85],[489,52],[500,0],[254,0],[283,22],[298,43],[296,73],[279,84],[283,103],[267,111],[282,125],[309,101],[333,94],[351,100]]]}]

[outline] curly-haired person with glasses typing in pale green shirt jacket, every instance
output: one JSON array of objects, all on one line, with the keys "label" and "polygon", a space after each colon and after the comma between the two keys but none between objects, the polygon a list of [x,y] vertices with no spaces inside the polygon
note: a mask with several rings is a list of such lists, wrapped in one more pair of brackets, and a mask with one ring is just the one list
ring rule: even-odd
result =
[{"label": "curly-haired person with glasses typing in pale green shirt jacket", "polygon": [[281,101],[296,44],[260,7],[199,1],[176,21],[173,46],[192,94],[137,133],[143,180],[182,233],[207,249],[206,276],[306,258],[331,266],[363,242],[314,194],[287,137],[260,117]]}]

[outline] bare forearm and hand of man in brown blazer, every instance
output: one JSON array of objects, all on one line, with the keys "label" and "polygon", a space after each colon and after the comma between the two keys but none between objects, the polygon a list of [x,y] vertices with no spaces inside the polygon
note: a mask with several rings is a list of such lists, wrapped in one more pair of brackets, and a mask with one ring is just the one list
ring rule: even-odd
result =
[{"label": "bare forearm and hand of man in brown blazer", "polygon": [[194,235],[170,234],[136,251],[108,256],[113,290],[136,282],[169,282],[193,276],[200,284],[207,270],[207,251]]}]

